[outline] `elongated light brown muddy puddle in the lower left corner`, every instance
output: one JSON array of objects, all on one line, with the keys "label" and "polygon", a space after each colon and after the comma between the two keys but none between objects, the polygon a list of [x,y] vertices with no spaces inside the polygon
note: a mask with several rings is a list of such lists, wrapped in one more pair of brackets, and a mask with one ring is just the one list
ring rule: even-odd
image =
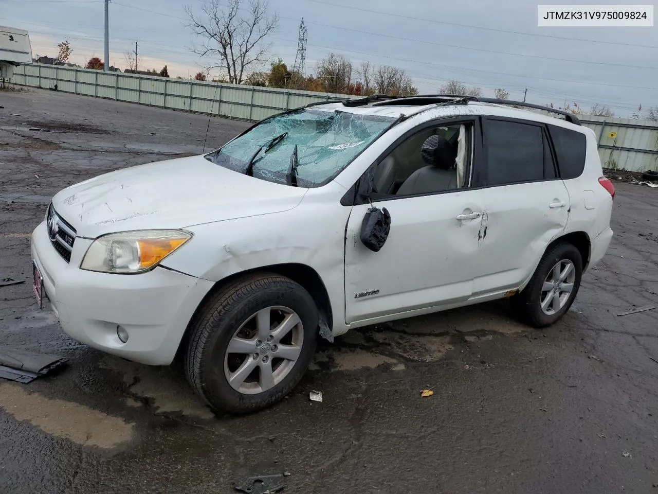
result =
[{"label": "elongated light brown muddy puddle in the lower left corner", "polygon": [[16,420],[82,446],[113,448],[130,441],[134,424],[77,403],[28,393],[24,385],[0,383],[0,408]]}]

